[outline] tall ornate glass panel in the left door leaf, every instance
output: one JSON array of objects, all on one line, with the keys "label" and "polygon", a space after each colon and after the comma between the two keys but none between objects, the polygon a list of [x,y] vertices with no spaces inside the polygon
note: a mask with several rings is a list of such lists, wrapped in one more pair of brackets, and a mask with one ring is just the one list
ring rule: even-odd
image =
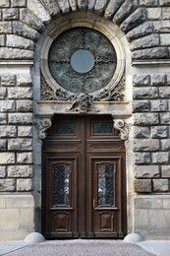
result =
[{"label": "tall ornate glass panel in the left door leaf", "polygon": [[54,205],[70,205],[70,163],[59,162],[54,165]]}]

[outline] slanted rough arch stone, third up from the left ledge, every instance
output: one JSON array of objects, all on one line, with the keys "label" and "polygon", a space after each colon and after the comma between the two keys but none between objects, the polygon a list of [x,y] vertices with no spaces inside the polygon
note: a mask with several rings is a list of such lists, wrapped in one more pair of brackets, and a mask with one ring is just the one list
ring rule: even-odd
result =
[{"label": "slanted rough arch stone, third up from the left ledge", "polygon": [[34,41],[36,41],[39,37],[38,32],[29,28],[28,25],[22,22],[13,22],[13,32]]}]

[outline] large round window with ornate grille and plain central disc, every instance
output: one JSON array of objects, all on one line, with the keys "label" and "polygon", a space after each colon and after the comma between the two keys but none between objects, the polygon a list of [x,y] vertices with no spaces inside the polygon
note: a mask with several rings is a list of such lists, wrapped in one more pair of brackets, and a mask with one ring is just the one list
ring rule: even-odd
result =
[{"label": "large round window with ornate grille and plain central disc", "polygon": [[113,44],[101,32],[74,28],[52,42],[48,67],[53,79],[74,94],[90,94],[108,85],[117,67]]}]

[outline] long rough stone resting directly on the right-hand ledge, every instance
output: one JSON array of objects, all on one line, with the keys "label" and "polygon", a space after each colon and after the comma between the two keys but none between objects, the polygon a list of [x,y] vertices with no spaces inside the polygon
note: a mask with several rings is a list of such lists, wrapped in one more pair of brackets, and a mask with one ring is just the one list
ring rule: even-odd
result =
[{"label": "long rough stone resting directly on the right-hand ledge", "polygon": [[168,59],[169,51],[167,47],[154,47],[133,51],[133,59]]}]

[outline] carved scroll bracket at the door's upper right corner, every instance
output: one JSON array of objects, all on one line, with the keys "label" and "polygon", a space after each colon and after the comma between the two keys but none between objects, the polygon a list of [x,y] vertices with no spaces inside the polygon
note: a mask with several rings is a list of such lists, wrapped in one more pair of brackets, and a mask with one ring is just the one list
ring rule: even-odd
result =
[{"label": "carved scroll bracket at the door's upper right corner", "polygon": [[125,123],[122,119],[114,119],[114,128],[120,131],[121,139],[126,141],[129,138],[129,133],[132,124]]}]

